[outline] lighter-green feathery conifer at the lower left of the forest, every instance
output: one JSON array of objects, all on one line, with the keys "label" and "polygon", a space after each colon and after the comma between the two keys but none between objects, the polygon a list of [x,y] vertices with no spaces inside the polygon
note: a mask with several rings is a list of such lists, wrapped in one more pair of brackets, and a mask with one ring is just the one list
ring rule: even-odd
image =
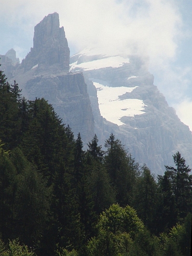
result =
[{"label": "lighter-green feathery conifer at the lower left of the forest", "polygon": [[19,149],[12,151],[11,160],[17,170],[15,187],[9,189],[15,197],[11,233],[37,246],[49,221],[52,188]]}]

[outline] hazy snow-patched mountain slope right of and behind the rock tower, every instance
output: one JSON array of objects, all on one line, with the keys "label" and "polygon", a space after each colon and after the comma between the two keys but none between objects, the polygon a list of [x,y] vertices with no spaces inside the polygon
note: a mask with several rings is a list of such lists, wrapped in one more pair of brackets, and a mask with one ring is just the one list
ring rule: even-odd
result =
[{"label": "hazy snow-patched mountain slope right of and behind the rock tower", "polygon": [[85,76],[102,144],[113,132],[135,160],[155,174],[164,173],[164,165],[174,165],[177,151],[192,166],[192,134],[153,84],[147,58],[86,49],[71,57],[71,71]]}]

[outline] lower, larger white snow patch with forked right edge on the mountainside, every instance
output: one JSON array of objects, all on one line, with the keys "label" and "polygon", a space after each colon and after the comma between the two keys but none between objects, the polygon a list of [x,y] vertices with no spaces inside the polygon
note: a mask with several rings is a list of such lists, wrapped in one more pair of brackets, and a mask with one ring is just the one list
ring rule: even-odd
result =
[{"label": "lower, larger white snow patch with forked right edge on the mountainside", "polygon": [[120,100],[119,96],[124,95],[126,92],[133,91],[136,87],[108,87],[100,83],[93,82],[97,89],[99,109],[101,115],[109,122],[114,124],[124,125],[120,121],[122,116],[134,116],[144,114],[145,104],[142,100],[138,99],[125,99]]}]

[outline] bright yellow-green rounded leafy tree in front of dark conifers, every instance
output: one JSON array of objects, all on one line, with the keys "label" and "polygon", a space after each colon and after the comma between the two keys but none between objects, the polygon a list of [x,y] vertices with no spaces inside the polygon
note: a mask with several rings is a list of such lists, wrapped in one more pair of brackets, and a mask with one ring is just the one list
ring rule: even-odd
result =
[{"label": "bright yellow-green rounded leafy tree in front of dark conifers", "polygon": [[87,254],[129,255],[133,238],[144,225],[130,206],[112,205],[100,215],[98,236],[89,240]]}]

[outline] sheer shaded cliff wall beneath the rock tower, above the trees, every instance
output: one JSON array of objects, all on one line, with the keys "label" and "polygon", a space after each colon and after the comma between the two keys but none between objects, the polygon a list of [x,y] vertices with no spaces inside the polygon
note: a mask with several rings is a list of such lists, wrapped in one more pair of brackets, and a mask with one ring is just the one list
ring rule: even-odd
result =
[{"label": "sheer shaded cliff wall beneath the rock tower, above the trees", "polygon": [[35,76],[26,82],[28,99],[45,98],[54,111],[69,124],[75,137],[78,132],[84,142],[94,136],[94,119],[87,85],[82,74]]}]

